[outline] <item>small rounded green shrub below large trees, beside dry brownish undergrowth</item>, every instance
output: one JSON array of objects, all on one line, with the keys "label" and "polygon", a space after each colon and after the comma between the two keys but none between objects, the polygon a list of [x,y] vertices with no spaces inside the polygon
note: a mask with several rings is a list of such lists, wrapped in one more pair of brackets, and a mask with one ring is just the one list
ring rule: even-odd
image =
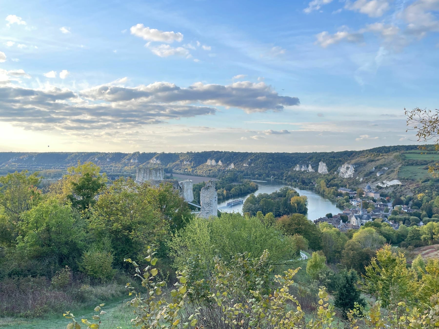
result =
[{"label": "small rounded green shrub below large trees, beside dry brownish undergrowth", "polygon": [[113,279],[115,270],[112,268],[113,256],[102,251],[88,251],[83,254],[79,269],[92,278],[107,282]]}]

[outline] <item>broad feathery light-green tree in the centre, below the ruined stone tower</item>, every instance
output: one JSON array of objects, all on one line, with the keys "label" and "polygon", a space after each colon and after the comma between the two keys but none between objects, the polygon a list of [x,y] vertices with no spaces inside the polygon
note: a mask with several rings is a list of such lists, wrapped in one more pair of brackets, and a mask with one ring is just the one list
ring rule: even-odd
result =
[{"label": "broad feathery light-green tree in the centre, below the ruined stone tower", "polygon": [[[261,218],[265,217],[262,215]],[[251,257],[259,257],[268,250],[271,261],[284,263],[297,258],[298,254],[291,236],[284,236],[257,217],[240,214],[222,214],[209,220],[192,218],[173,235],[170,247],[178,268],[183,268],[187,259],[196,255],[212,264],[217,255],[227,261],[235,254],[249,253]]]}]

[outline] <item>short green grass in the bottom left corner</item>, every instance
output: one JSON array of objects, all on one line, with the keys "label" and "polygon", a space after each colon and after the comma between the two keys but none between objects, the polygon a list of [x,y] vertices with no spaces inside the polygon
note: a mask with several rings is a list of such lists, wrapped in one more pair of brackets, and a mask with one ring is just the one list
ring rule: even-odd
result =
[{"label": "short green grass in the bottom left corner", "polygon": [[[102,316],[102,323],[100,329],[115,329],[120,327],[122,329],[132,328],[131,319],[135,318],[133,315],[133,309],[126,306],[125,300],[119,302],[107,304],[102,308],[102,311],[106,311],[107,314]],[[96,314],[93,308],[85,309],[81,311],[71,311],[75,315],[76,321],[81,324],[81,327],[85,328],[81,319],[86,318],[90,322],[96,322],[92,320],[92,315]],[[47,318],[37,319],[25,319],[25,318],[0,318],[1,329],[65,329],[68,324],[68,319],[65,319],[62,314],[50,315]]]}]

